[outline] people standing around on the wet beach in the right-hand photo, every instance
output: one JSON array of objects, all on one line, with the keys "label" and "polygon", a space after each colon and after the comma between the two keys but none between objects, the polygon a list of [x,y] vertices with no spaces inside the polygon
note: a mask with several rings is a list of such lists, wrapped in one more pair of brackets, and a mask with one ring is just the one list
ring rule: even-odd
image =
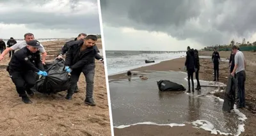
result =
[{"label": "people standing around on the wet beach in the right-hand photo", "polygon": [[[198,56],[198,50],[187,48],[186,52],[186,61],[185,66],[186,71],[188,73],[188,91],[187,93],[191,93],[191,86],[190,80],[192,84],[192,92],[194,92],[194,81],[193,81],[193,73],[195,72],[197,87],[196,90],[200,90],[200,82],[199,82],[199,70],[200,70],[200,61]],[[214,69],[214,81],[219,81],[219,64],[220,64],[220,53],[217,51],[217,48],[214,47],[214,52],[212,52],[212,63]],[[244,84],[246,80],[246,61],[244,58],[243,52],[239,50],[239,46],[232,45],[232,51],[230,54],[229,60],[229,68],[230,68],[230,75],[235,77],[237,80],[237,108],[244,108],[245,107],[245,94],[244,94]]]}]

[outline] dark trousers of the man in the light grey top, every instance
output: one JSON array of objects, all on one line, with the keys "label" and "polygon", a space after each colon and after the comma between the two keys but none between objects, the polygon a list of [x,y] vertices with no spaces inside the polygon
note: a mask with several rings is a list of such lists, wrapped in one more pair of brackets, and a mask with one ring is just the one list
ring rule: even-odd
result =
[{"label": "dark trousers of the man in the light grey top", "polygon": [[237,96],[238,96],[238,107],[245,107],[245,94],[244,94],[244,83],[246,75],[244,70],[238,72],[237,76]]}]

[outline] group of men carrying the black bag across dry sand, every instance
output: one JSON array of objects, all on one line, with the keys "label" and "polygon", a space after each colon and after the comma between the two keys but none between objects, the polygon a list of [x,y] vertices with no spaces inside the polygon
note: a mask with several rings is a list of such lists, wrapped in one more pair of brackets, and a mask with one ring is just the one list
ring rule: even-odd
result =
[{"label": "group of men carrying the black bag across dry sand", "polygon": [[[103,57],[98,54],[99,49],[95,45],[96,42],[97,36],[81,33],[74,40],[66,42],[60,54],[57,55],[56,59],[63,59],[63,55],[66,54],[65,71],[71,75],[70,87],[65,97],[67,100],[71,100],[72,95],[77,93],[77,82],[83,72],[84,77],[86,77],[86,98],[84,103],[95,105],[93,101],[95,58],[103,63]],[[15,84],[17,93],[22,98],[22,102],[32,103],[28,95],[33,96],[35,94],[31,88],[36,84],[37,75],[47,76],[47,72],[44,70],[47,52],[44,46],[35,40],[32,33],[24,34],[24,41],[18,43],[13,38],[10,38],[7,45],[8,48],[6,48],[3,40],[0,40],[0,49],[3,46],[0,61],[4,59],[8,52],[12,53],[19,49],[14,54],[10,54],[12,58],[6,70]]]}]

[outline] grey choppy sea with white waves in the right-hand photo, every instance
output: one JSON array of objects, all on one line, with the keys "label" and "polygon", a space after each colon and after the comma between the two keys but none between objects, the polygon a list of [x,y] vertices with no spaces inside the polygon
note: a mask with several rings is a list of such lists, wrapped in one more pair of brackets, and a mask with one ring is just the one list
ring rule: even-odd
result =
[{"label": "grey choppy sea with white waves in the right-hand photo", "polygon": [[[149,66],[186,56],[185,51],[116,51],[106,50],[106,62],[108,75],[116,75],[134,68]],[[145,63],[145,60],[155,61],[155,63]]]}]

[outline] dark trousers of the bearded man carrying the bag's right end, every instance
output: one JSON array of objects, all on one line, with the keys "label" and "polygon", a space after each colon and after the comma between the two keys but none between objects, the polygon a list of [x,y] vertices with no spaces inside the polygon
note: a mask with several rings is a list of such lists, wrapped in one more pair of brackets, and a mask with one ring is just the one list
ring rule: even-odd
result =
[{"label": "dark trousers of the bearded man carrying the bag's right end", "polygon": [[71,72],[71,81],[70,81],[70,88],[68,89],[68,94],[74,94],[74,90],[77,87],[77,82],[81,73],[83,72],[85,81],[86,81],[86,98],[93,97],[93,87],[94,87],[94,73],[95,70],[91,70],[90,72],[85,72],[85,70],[73,70]]}]

